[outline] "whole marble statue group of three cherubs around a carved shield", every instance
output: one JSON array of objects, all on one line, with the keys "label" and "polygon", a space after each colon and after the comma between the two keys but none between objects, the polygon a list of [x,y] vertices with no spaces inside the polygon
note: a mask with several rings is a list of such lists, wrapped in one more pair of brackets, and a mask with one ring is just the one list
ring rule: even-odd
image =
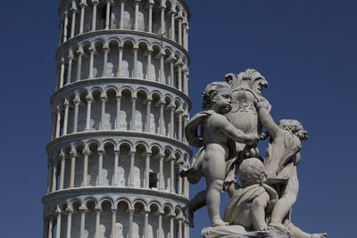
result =
[{"label": "whole marble statue group of three cherubs around a carved shield", "polygon": [[[305,233],[291,221],[299,190],[296,167],[307,132],[295,119],[274,122],[270,103],[262,96],[267,86],[256,70],[228,74],[226,82],[205,88],[207,111],[196,114],[185,128],[187,142],[200,150],[180,176],[187,176],[191,184],[204,176],[207,188],[183,211],[187,224],[194,226],[195,210],[207,205],[212,226],[203,229],[204,238],[327,236]],[[257,144],[267,137],[263,158]],[[230,200],[221,219],[224,192]]]}]

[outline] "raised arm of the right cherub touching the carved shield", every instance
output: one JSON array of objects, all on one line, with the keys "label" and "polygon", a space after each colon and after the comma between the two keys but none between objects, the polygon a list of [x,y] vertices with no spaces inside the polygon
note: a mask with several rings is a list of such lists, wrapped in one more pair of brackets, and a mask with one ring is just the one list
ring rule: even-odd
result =
[{"label": "raised arm of the right cherub touching the carved shield", "polygon": [[268,110],[270,104],[265,99],[262,99],[255,103],[255,106],[257,107],[259,119],[262,122],[262,126],[267,129],[267,132],[270,137],[272,137],[273,139],[276,138],[280,133],[280,128],[274,122],[274,119],[272,119],[270,116],[270,112]]}]

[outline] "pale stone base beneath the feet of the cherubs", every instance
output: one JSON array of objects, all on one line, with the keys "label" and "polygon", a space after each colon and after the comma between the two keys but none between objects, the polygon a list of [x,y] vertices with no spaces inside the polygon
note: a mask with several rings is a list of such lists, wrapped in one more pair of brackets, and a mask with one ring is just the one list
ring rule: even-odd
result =
[{"label": "pale stone base beneath the feet of the cherubs", "polygon": [[243,226],[216,226],[203,228],[203,238],[293,238],[277,230],[266,232],[251,232]]}]

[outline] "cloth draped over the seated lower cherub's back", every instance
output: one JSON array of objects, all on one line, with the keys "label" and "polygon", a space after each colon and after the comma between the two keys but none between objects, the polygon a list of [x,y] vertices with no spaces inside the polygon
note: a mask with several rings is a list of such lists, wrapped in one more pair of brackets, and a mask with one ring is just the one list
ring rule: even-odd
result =
[{"label": "cloth draped over the seated lower cherub's back", "polygon": [[262,195],[262,193],[268,193],[270,201],[278,200],[278,193],[275,189],[264,183],[237,189],[224,211],[224,221],[227,221],[229,225],[233,224],[237,216],[240,216],[242,210],[245,209],[245,205]]}]

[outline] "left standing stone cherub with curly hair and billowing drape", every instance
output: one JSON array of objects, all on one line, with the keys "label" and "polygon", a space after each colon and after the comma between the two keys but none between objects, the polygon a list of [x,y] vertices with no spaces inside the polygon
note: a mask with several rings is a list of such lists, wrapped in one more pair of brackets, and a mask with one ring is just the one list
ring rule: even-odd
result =
[{"label": "left standing stone cherub with curly hair and billowing drape", "polygon": [[181,171],[180,176],[187,176],[191,184],[205,176],[207,183],[206,190],[198,193],[185,210],[190,226],[193,226],[195,209],[205,204],[212,226],[228,225],[220,217],[220,193],[227,177],[226,160],[229,159],[228,144],[232,141],[256,144],[259,140],[258,135],[245,135],[223,116],[232,109],[230,95],[230,86],[226,82],[209,84],[203,92],[203,109],[207,111],[197,113],[185,129],[188,143],[201,149],[191,168]]}]

